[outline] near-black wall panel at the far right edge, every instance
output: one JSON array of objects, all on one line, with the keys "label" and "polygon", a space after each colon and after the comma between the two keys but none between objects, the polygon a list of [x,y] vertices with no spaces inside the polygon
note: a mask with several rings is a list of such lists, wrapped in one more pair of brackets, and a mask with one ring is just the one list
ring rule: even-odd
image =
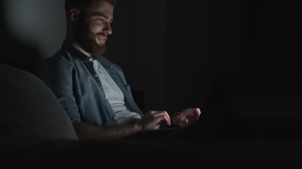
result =
[{"label": "near-black wall panel at the far right edge", "polygon": [[301,16],[296,1],[241,2],[242,107],[301,118]]}]

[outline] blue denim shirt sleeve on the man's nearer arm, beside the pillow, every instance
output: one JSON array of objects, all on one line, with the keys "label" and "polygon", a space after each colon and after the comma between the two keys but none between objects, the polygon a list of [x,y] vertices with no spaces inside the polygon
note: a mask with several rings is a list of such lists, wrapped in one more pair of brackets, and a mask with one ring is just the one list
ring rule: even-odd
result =
[{"label": "blue denim shirt sleeve on the man's nearer arm, beside the pillow", "polygon": [[38,69],[37,76],[54,92],[63,105],[72,124],[80,123],[80,114],[73,92],[73,68],[62,60],[46,60]]}]

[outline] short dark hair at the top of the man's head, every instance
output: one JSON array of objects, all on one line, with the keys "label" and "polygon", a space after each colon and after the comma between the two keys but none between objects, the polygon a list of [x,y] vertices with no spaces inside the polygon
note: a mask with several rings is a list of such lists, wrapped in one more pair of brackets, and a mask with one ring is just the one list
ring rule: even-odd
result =
[{"label": "short dark hair at the top of the man's head", "polygon": [[[72,8],[76,8],[79,10],[85,9],[87,6],[89,6],[89,4],[91,4],[92,1],[95,1],[95,0],[65,0],[66,14]],[[117,3],[117,0],[104,0],[104,1],[112,4],[113,6],[115,6]]]}]

